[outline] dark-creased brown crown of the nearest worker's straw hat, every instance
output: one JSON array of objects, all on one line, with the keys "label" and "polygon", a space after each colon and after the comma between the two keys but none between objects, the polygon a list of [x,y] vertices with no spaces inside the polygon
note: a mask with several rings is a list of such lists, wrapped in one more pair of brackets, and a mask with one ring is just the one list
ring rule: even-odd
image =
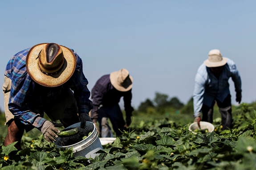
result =
[{"label": "dark-creased brown crown of the nearest worker's straw hat", "polygon": [[54,74],[61,69],[64,60],[61,47],[57,43],[48,43],[39,53],[38,65],[46,75]]}]

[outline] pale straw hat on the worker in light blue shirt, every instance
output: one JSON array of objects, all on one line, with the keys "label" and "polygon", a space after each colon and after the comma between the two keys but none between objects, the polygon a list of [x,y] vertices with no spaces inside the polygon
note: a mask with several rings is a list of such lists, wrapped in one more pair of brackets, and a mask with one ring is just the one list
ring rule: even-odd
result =
[{"label": "pale straw hat on the worker in light blue shirt", "polygon": [[220,67],[227,63],[228,59],[222,57],[221,52],[217,49],[211,50],[208,54],[208,59],[203,63],[206,67]]}]

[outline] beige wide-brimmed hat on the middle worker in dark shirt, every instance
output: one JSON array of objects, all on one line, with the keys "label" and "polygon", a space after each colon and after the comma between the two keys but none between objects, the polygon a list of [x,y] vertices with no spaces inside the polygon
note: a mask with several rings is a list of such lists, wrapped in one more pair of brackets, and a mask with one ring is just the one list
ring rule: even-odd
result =
[{"label": "beige wide-brimmed hat on the middle worker in dark shirt", "polygon": [[110,73],[110,82],[118,91],[129,91],[132,88],[133,78],[128,70],[122,68]]}]

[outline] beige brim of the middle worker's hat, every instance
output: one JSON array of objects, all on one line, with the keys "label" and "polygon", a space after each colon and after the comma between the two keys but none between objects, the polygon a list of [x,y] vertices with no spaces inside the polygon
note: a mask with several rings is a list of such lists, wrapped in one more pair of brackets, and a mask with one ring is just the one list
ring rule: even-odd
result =
[{"label": "beige brim of the middle worker's hat", "polygon": [[129,82],[128,85],[126,87],[120,86],[118,84],[118,71],[114,71],[112,73],[110,73],[110,83],[114,86],[115,89],[117,89],[118,91],[129,91],[132,88],[133,85],[133,78],[132,76],[129,75]]}]

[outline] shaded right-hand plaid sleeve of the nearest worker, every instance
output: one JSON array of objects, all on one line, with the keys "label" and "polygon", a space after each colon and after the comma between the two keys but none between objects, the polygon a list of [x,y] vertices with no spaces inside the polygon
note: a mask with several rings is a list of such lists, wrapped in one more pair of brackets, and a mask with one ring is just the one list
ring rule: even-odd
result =
[{"label": "shaded right-hand plaid sleeve of the nearest worker", "polygon": [[88,80],[83,73],[83,64],[81,58],[74,52],[77,57],[76,70],[71,78],[71,90],[74,91],[74,97],[77,101],[78,114],[87,113],[93,108],[93,103],[89,100],[90,91],[87,88]]}]

